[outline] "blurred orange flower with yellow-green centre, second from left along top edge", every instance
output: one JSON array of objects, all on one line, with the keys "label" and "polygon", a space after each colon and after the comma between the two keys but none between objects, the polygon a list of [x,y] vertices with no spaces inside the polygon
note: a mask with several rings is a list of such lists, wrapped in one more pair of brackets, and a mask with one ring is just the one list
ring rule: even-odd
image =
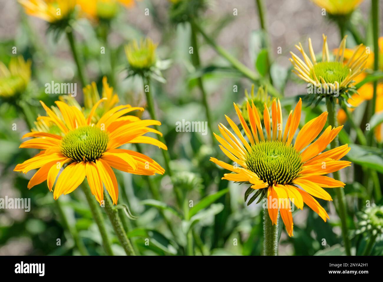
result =
[{"label": "blurred orange flower with yellow-green centre, second from left along top edge", "polygon": [[77,0],[77,3],[81,12],[93,20],[114,18],[121,4],[127,8],[134,6],[134,0]]}]

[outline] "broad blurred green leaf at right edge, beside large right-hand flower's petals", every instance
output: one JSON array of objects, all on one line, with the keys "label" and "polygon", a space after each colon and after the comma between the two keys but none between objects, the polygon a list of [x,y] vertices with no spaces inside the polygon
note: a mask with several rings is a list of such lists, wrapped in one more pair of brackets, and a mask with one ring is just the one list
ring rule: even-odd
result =
[{"label": "broad blurred green leaf at right edge, beside large right-hand flower's petals", "polygon": [[346,157],[353,163],[383,173],[383,151],[378,148],[350,144],[350,152]]}]

